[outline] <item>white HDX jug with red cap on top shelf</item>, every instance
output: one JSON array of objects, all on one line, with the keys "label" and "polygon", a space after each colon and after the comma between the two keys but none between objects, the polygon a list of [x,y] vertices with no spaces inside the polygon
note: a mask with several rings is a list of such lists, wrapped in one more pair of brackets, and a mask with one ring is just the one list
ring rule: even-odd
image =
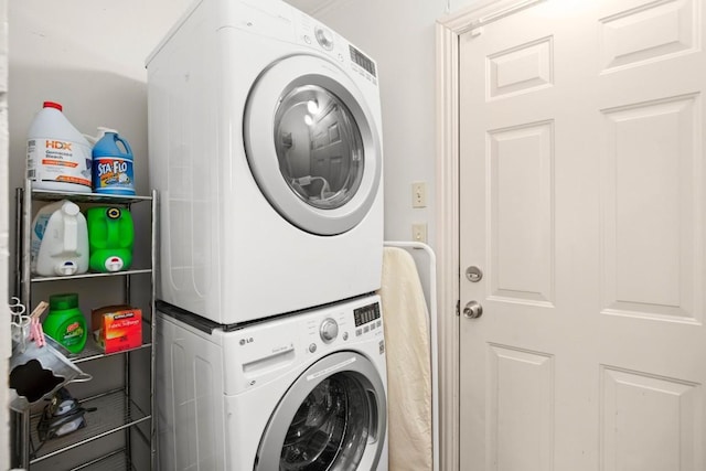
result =
[{"label": "white HDX jug with red cap on top shelf", "polygon": [[51,191],[90,192],[90,144],[64,116],[58,103],[44,101],[26,140],[26,178]]}]

